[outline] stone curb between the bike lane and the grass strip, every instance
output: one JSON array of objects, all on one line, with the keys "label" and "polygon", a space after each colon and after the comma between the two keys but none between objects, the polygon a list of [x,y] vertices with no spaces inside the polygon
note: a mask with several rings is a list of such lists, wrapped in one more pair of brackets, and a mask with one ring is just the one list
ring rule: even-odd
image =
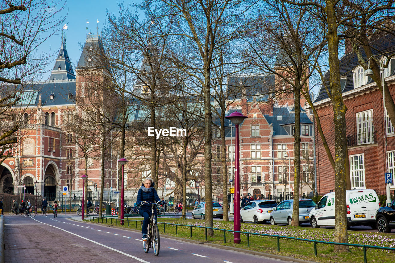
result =
[{"label": "stone curb between the bike lane and the grass strip", "polygon": [[[71,219],[71,220],[73,220],[73,219]],[[73,221],[77,221],[77,220],[73,220]],[[83,222],[83,223],[88,223],[88,222]],[[94,223],[94,224],[102,225],[101,223]],[[126,227],[120,227],[120,226],[117,226],[117,225],[108,225],[108,227],[114,227],[114,228],[117,228],[117,229],[124,229],[124,230],[132,231],[132,232],[141,233],[141,231],[139,231],[139,230],[129,229],[129,228],[126,228]],[[206,241],[196,241],[196,240],[191,240],[191,239],[183,239],[181,237],[167,236],[167,235],[164,235],[164,234],[160,234],[160,236],[168,238],[168,239],[180,240],[180,241],[184,241],[184,242],[188,242],[188,243],[192,243],[192,244],[211,246],[211,247],[214,247],[214,248],[220,248],[220,249],[224,249],[224,250],[232,250],[232,251],[242,252],[242,253],[251,254],[251,255],[259,255],[259,256],[263,256],[263,257],[270,257],[270,258],[280,259],[280,260],[284,260],[284,261],[293,261],[293,262],[298,262],[298,263],[316,263],[316,261],[309,261],[309,260],[299,259],[299,258],[295,258],[295,257],[288,257],[288,256],[282,256],[282,255],[263,253],[263,252],[254,251],[254,250],[248,250],[248,249],[244,249],[244,248],[235,248],[233,246],[223,246],[223,245],[218,245],[218,244],[212,244],[211,242],[206,242]]]}]

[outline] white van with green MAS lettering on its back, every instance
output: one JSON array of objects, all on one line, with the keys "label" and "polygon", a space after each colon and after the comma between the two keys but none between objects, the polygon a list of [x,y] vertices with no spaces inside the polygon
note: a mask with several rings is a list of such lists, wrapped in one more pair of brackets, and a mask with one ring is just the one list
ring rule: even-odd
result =
[{"label": "white van with green MAS lettering on its back", "polygon": [[[347,225],[376,227],[375,215],[380,207],[378,196],[372,189],[346,190]],[[335,225],[335,192],[327,193],[310,211],[312,227]]]}]

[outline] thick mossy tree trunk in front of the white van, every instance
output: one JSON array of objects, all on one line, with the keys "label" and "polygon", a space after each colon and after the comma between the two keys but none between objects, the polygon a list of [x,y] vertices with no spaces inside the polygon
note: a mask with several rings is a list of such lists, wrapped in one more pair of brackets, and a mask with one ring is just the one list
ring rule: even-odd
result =
[{"label": "thick mossy tree trunk in front of the white van", "polygon": [[[325,7],[327,13],[327,41],[329,51],[329,87],[335,122],[335,242],[348,243],[346,218],[346,158],[348,158],[346,140],[346,111],[340,87],[339,69],[339,37],[335,15],[335,2],[328,0]],[[348,251],[348,246],[336,246],[335,252]]]}]

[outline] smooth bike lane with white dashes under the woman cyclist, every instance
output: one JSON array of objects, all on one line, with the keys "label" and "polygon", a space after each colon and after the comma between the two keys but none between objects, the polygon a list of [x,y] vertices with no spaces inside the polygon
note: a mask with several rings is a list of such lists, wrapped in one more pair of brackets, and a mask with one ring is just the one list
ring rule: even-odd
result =
[{"label": "smooth bike lane with white dashes under the woman cyclist", "polygon": [[[147,262],[263,262],[263,263],[279,263],[292,262],[282,261],[280,259],[273,259],[262,257],[258,255],[245,254],[241,252],[234,252],[231,250],[224,250],[220,248],[213,248],[200,244],[193,244],[189,242],[160,238],[160,253],[156,257],[153,254],[152,248],[146,254],[143,250],[143,242],[141,240],[141,233],[120,229],[117,227],[109,227],[100,224],[92,224],[86,222],[75,222],[68,218],[51,218],[40,217],[34,218],[41,224],[53,226],[58,231],[67,231],[70,235],[77,235],[87,246],[89,243],[100,244],[104,248],[116,250],[118,253],[132,255],[135,259],[141,259]],[[91,240],[91,241],[89,241]],[[122,261],[119,261],[122,262]],[[128,262],[135,262],[130,261]]]}]

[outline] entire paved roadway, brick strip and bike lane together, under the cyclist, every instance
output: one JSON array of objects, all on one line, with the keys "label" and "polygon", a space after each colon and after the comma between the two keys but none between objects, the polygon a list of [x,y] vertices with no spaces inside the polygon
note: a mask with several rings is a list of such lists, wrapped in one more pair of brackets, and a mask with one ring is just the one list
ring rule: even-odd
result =
[{"label": "entire paved roadway, brick strip and bike lane together, under the cyclist", "polygon": [[291,263],[161,237],[160,254],[143,250],[141,233],[76,222],[75,214],[58,218],[5,216],[6,258],[9,262],[261,262]]}]

